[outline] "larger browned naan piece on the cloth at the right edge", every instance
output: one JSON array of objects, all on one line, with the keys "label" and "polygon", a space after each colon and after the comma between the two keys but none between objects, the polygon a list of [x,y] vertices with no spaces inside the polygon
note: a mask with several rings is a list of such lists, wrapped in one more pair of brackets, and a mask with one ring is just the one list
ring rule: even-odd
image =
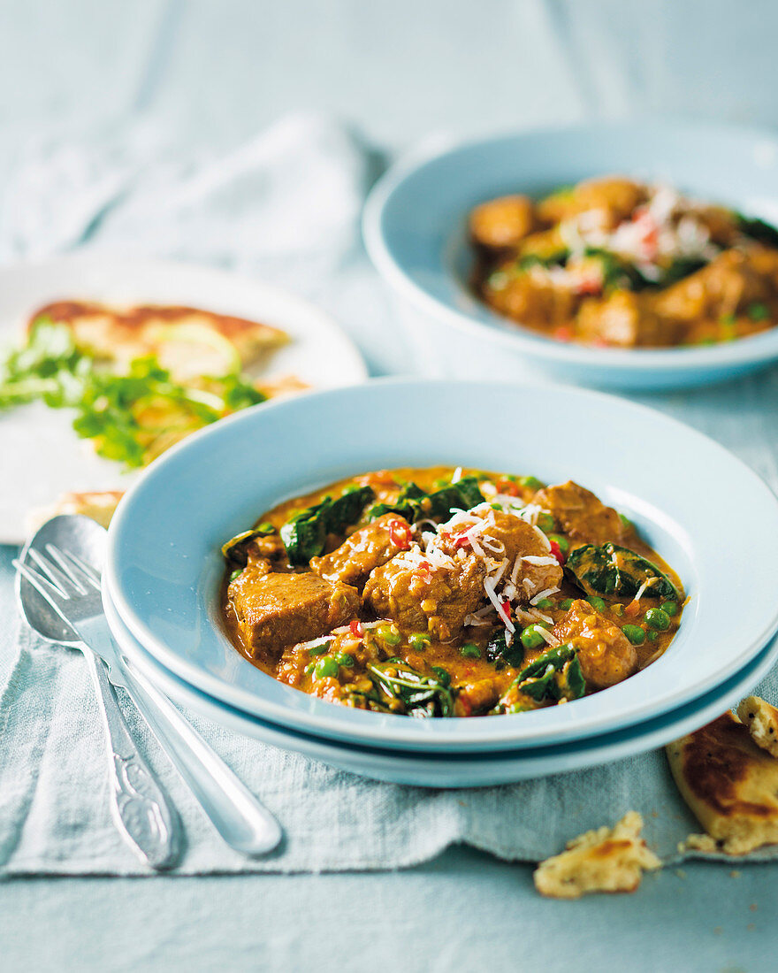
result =
[{"label": "larger browned naan piece on the cloth at the right edge", "polygon": [[745,854],[778,843],[778,760],[728,710],[665,749],[678,789],[718,850]]}]

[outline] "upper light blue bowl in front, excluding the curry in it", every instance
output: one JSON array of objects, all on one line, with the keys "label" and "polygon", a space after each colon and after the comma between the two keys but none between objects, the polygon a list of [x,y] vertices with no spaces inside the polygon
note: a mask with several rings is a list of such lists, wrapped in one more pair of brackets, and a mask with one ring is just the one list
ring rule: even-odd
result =
[{"label": "upper light blue bowl in front, excluding the curry in it", "polygon": [[[232,648],[219,614],[225,538],[339,477],[436,463],[573,477],[632,518],[690,595],[668,651],[566,706],[413,720],[307,696]],[[104,578],[164,667],[235,708],[370,746],[494,750],[651,719],[746,666],[778,630],[777,538],[778,501],[759,477],[664,415],[573,388],[393,379],[247,410],[165,453],[111,524]]]}]

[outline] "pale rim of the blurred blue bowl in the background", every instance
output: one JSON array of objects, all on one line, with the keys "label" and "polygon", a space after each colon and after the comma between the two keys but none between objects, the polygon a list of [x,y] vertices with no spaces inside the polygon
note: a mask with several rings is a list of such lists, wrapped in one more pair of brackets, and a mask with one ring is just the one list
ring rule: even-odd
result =
[{"label": "pale rim of the blurred blue bowl in the background", "polygon": [[[397,293],[418,310],[426,312],[456,330],[471,337],[487,334],[495,342],[528,357],[548,360],[563,365],[574,364],[582,368],[613,370],[623,373],[651,373],[661,368],[665,372],[685,372],[697,369],[701,372],[718,370],[723,366],[750,365],[769,362],[778,358],[778,325],[769,331],[734,342],[700,347],[671,348],[597,348],[574,342],[556,342],[530,328],[498,314],[480,302],[487,319],[479,320],[466,311],[450,306],[430,294],[404,269],[395,256],[383,233],[383,214],[393,196],[417,172],[434,166],[449,157],[466,153],[486,145],[507,142],[531,141],[536,138],[559,136],[586,136],[601,133],[603,136],[627,134],[647,125],[661,128],[667,133],[690,130],[726,138],[759,139],[775,146],[778,151],[778,135],[766,128],[752,126],[716,125],[705,122],[681,120],[655,120],[600,123],[595,125],[537,126],[527,129],[506,130],[491,135],[463,139],[436,139],[415,150],[410,150],[387,169],[373,186],[362,213],[362,234],[371,262],[378,274]],[[443,270],[448,275],[448,270]]]}]

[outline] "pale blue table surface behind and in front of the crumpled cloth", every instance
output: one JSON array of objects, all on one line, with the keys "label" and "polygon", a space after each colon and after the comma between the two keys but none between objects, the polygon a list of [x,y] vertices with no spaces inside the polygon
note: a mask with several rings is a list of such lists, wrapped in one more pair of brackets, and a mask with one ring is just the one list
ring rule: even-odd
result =
[{"label": "pale blue table surface behind and in front of the crumpled cloth", "polygon": [[[5,4],[0,177],[29,137],[138,117],[229,146],[313,108],[390,151],[635,112],[774,125],[776,34],[771,0]],[[0,969],[756,970],[776,904],[769,865],[558,903],[461,848],[374,875],[24,880],[0,883]]]}]

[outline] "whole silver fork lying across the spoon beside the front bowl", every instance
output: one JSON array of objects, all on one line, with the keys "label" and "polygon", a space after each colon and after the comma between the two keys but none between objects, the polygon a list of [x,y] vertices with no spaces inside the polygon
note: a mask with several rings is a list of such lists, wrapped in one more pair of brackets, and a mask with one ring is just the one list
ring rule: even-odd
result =
[{"label": "whole silver fork lying across the spoon beside the front bowl", "polygon": [[243,854],[265,854],[281,840],[269,811],[235,776],[176,707],[137,667],[116,651],[100,594],[100,574],[87,561],[53,544],[48,558],[30,548],[39,570],[15,560],[17,570],[42,595],[124,688],[159,740],[170,761],[190,785],[200,807],[224,841]]}]

